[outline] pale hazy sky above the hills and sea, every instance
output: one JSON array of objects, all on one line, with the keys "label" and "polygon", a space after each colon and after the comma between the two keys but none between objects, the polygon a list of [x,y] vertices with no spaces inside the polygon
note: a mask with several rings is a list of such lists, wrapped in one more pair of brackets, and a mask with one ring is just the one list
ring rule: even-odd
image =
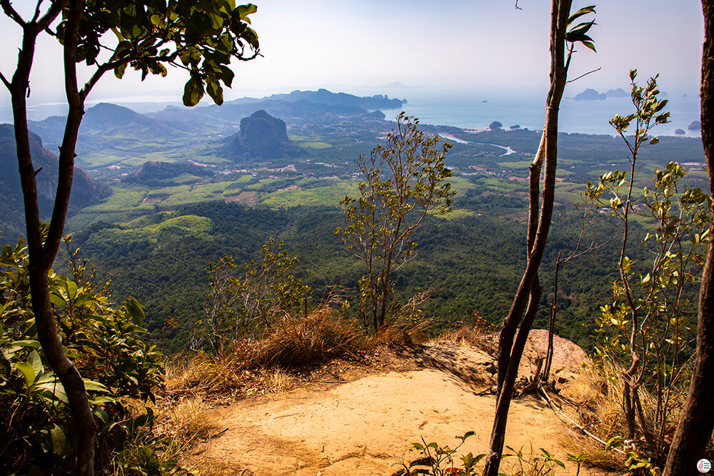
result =
[{"label": "pale hazy sky above the hills and sea", "polygon": [[[23,8],[34,2],[21,0]],[[253,29],[262,57],[235,62],[226,99],[294,89],[328,88],[390,97],[535,94],[548,88],[550,2],[544,0],[257,0]],[[573,2],[573,11],[590,1]],[[703,16],[696,0],[601,0],[591,30],[598,52],[580,47],[570,77],[600,68],[568,86],[606,91],[628,87],[628,71],[660,74],[670,93],[698,93]],[[20,31],[0,19],[0,71],[16,63]],[[62,101],[61,52],[44,38],[31,76],[30,103]],[[108,74],[90,102],[180,101],[183,71],[144,83],[131,72]],[[409,88],[389,88],[399,81]],[[566,91],[567,94],[567,91]],[[208,98],[204,99],[208,103]],[[9,93],[0,95],[0,107]]]}]

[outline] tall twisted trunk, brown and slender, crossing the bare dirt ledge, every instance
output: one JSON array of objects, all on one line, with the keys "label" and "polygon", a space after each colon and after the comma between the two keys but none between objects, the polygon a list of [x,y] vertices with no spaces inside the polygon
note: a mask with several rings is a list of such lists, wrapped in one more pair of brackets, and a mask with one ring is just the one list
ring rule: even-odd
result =
[{"label": "tall twisted trunk, brown and slender, crossing the bare dirt ledge", "polygon": [[[538,208],[539,194],[537,191],[540,175],[538,154],[531,166],[531,216],[528,224],[528,264],[523,273],[521,283],[516,290],[511,310],[503,320],[501,335],[498,339],[498,393],[496,401],[496,416],[493,420],[491,444],[486,456],[486,467],[483,476],[498,476],[498,467],[501,465],[501,453],[506,437],[506,422],[508,408],[513,397],[513,385],[518,376],[518,366],[521,363],[523,347],[526,345],[528,333],[535,318],[540,302],[540,283],[538,281],[538,268],[543,258],[545,242],[548,240],[550,221],[553,217],[553,202],[555,198],[555,171],[558,165],[558,108],[563,97],[567,76],[565,66],[565,31],[570,16],[572,0],[553,0],[550,12],[550,89],[548,90],[547,112],[545,115],[545,128],[543,131],[544,168],[543,176],[543,201],[540,203],[540,215],[537,226],[533,220],[535,209]],[[535,183],[535,192],[534,186]],[[532,243],[532,245],[531,245]],[[526,309],[526,305],[528,308]],[[526,313],[518,330],[523,313]],[[513,338],[518,330],[516,344]]]}]

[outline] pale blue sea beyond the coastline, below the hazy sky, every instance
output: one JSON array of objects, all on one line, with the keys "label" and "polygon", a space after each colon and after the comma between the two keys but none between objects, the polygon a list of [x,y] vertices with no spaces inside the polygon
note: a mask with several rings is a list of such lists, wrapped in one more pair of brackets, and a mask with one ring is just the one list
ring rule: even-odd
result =
[{"label": "pale blue sea beyond the coastline, below the hazy sky", "polygon": [[[540,96],[428,96],[408,94],[402,107],[409,115],[416,116],[424,124],[456,126],[482,130],[493,121],[503,128],[519,126],[530,130],[543,130],[545,123],[545,94]],[[670,123],[656,126],[655,136],[683,135],[700,137],[700,131],[688,127],[700,120],[698,96],[678,95],[666,97],[670,111]],[[608,98],[595,101],[575,101],[563,98],[560,103],[558,130],[568,133],[615,135],[609,121],[620,114],[633,112],[630,98]],[[387,118],[394,118],[399,111],[383,111]],[[675,134],[680,129],[684,134]]]}]

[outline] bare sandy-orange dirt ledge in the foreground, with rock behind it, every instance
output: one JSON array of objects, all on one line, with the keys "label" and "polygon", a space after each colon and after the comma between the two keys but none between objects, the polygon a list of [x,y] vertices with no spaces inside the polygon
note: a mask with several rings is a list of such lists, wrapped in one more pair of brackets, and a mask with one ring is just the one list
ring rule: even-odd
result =
[{"label": "bare sandy-orange dirt ledge in the foreground, with rock behind it", "polygon": [[[418,456],[411,442],[454,447],[455,436],[470,430],[476,435],[457,455],[486,452],[496,405],[488,345],[436,342],[383,351],[382,365],[331,368],[293,390],[216,407],[216,437],[193,450],[191,465],[207,475],[391,475],[396,462]],[[542,350],[543,335],[535,333],[522,375]],[[583,359],[573,343],[556,340],[553,369],[564,369],[558,375],[572,378]],[[575,475],[563,447],[568,431],[544,400],[526,396],[513,400],[506,445],[523,447],[527,456],[543,447],[565,462],[555,474]],[[501,469],[510,472],[515,463],[506,458]]]}]

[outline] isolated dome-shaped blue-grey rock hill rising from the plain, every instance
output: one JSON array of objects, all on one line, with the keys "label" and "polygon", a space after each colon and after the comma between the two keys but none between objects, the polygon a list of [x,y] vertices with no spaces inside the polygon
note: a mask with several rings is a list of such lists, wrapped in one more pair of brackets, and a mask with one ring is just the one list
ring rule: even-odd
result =
[{"label": "isolated dome-shaped blue-grey rock hill rising from the plain", "polygon": [[241,131],[223,149],[229,158],[279,158],[291,152],[285,122],[266,111],[241,119]]}]

